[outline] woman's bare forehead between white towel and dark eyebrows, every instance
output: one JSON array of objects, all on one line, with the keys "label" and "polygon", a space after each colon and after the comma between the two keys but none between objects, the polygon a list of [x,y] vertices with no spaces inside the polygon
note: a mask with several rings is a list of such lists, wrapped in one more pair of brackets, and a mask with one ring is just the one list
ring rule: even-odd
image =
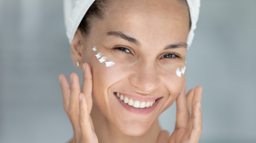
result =
[{"label": "woman's bare forehead between white towel and dark eyebrows", "polygon": [[[177,0],[111,0],[105,13],[105,32],[121,31],[143,45],[186,42],[188,10]],[[152,43],[153,44],[153,43]]]}]

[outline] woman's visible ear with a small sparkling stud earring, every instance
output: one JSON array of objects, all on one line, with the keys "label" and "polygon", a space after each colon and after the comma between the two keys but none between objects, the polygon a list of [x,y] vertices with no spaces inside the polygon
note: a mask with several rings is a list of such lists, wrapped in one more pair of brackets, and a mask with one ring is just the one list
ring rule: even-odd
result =
[{"label": "woman's visible ear with a small sparkling stud earring", "polygon": [[[71,57],[73,60],[73,63],[75,65],[76,68],[81,69],[82,68],[82,64],[83,64],[83,35],[80,31],[80,29],[78,28],[75,32],[75,36],[74,39],[71,42]],[[77,66],[76,62],[79,62],[80,65]]]}]

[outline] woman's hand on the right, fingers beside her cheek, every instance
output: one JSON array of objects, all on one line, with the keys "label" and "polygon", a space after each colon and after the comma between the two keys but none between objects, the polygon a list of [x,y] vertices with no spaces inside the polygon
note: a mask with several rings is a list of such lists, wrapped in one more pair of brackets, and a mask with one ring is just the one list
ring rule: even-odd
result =
[{"label": "woman's hand on the right, fingers beside her cheek", "polygon": [[197,86],[186,95],[185,82],[176,100],[177,114],[174,132],[169,136],[167,131],[161,131],[157,143],[198,143],[203,124],[201,100],[202,87]]}]

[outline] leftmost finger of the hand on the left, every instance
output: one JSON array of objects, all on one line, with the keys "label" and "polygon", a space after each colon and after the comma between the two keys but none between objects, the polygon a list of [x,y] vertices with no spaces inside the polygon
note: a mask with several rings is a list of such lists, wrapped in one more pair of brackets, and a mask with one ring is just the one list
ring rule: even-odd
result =
[{"label": "leftmost finger of the hand on the left", "polygon": [[60,82],[60,87],[61,87],[62,97],[63,97],[63,108],[68,114],[69,97],[71,92],[69,81],[64,74],[60,74],[59,82]]}]

